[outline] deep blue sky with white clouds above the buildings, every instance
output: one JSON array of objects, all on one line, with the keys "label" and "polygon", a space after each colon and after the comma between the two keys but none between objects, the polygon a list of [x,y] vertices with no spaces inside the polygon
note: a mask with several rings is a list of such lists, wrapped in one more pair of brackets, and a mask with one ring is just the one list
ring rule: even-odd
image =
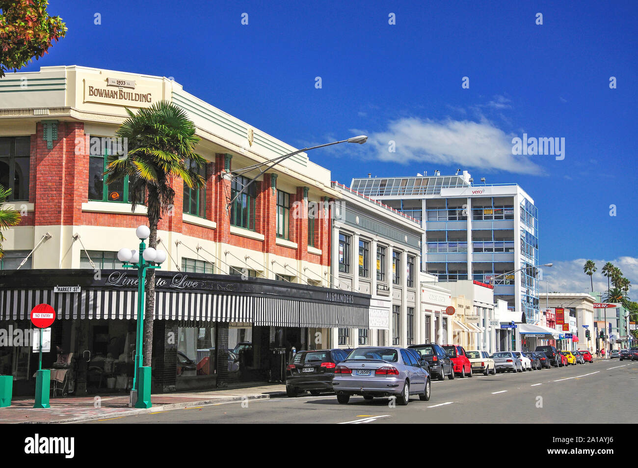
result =
[{"label": "deep blue sky with white clouds above the buildings", "polygon": [[[346,184],[459,168],[518,183],[539,210],[540,262],[556,263],[551,289],[589,285],[584,258],[638,283],[638,4],[554,3],[51,0],[69,32],[26,70],[174,77],[299,147],[366,133],[364,146],[309,153]],[[565,138],[565,159],[512,155],[523,133]]]}]

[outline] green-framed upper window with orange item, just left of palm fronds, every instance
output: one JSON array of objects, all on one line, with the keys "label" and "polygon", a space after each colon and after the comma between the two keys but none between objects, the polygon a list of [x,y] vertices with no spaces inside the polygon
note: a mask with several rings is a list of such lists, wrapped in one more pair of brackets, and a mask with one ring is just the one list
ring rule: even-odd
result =
[{"label": "green-framed upper window with orange item, just left of palm fronds", "polygon": [[89,155],[89,200],[99,202],[128,203],[128,176],[107,184],[104,173],[107,170],[109,149],[106,138],[100,144],[91,144]]}]

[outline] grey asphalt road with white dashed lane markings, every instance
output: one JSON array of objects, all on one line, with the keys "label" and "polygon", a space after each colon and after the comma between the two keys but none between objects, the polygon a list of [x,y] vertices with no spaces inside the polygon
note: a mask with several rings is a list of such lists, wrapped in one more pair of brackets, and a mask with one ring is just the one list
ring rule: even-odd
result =
[{"label": "grey asphalt road with white dashed lane markings", "polygon": [[429,402],[413,396],[407,406],[387,398],[334,394],[231,402],[140,416],[88,421],[127,423],[634,423],[638,362],[608,359],[593,364],[475,375],[432,382]]}]

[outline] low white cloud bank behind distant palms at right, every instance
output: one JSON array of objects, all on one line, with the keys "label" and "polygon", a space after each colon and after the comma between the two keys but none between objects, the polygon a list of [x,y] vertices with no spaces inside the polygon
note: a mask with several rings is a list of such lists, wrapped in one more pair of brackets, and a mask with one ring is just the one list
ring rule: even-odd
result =
[{"label": "low white cloud bank behind distant palms at right", "polygon": [[[588,259],[575,259],[564,262],[554,262],[552,268],[543,268],[543,280],[540,282],[539,295],[542,299],[547,289],[545,280],[549,280],[549,291],[558,292],[590,292],[590,277],[582,271],[582,266]],[[638,258],[618,257],[613,260],[593,260],[597,271],[593,274],[594,291],[607,291],[607,278],[602,275],[602,268],[607,262],[612,262],[622,272],[623,276],[632,282],[629,289],[629,297],[638,298]],[[632,290],[634,294],[632,294]],[[542,301],[541,301],[542,303]]]}]

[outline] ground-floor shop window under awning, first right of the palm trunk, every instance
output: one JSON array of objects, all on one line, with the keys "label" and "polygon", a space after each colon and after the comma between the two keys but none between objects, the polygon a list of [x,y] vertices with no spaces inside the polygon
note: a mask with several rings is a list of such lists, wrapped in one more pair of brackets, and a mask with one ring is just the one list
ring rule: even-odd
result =
[{"label": "ground-floor shop window under awning, first right of the palm trunk", "polygon": [[215,328],[177,328],[177,377],[207,377],[215,374]]}]

